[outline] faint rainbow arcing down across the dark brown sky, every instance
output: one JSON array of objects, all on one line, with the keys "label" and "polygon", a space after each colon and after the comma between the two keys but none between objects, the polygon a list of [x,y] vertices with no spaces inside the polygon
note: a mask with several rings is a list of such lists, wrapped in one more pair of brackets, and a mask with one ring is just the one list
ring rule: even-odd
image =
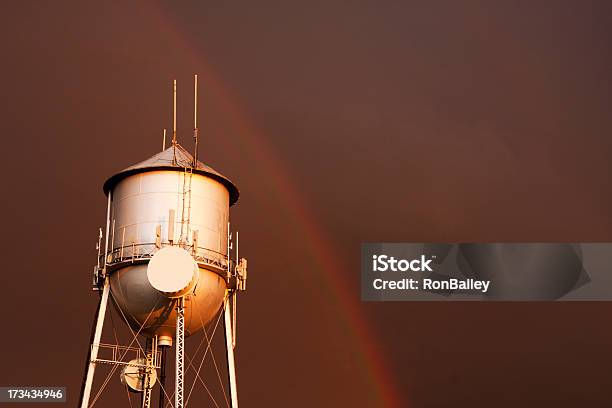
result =
[{"label": "faint rainbow arcing down across the dark brown sky", "polygon": [[[339,324],[344,325],[343,331],[349,338],[353,339],[356,363],[360,366],[361,375],[369,384],[370,400],[368,406],[399,407],[405,406],[397,392],[396,385],[390,370],[386,367],[383,354],[379,351],[378,343],[368,327],[367,320],[360,310],[360,302],[353,293],[349,293],[340,270],[342,265],[330,249],[331,245],[322,229],[317,225],[316,219],[308,211],[304,204],[306,201],[300,196],[299,191],[294,188],[294,183],[287,176],[287,167],[280,159],[280,155],[274,153],[274,148],[248,120],[244,109],[239,109],[236,99],[233,98],[224,86],[223,81],[214,72],[206,59],[200,55],[195,47],[189,45],[186,36],[180,32],[179,27],[168,19],[165,12],[155,2],[147,3],[151,7],[145,7],[149,17],[154,19],[157,27],[162,27],[164,34],[177,47],[185,52],[192,60],[201,78],[205,79],[206,94],[211,95],[215,104],[226,112],[232,119],[235,136],[239,138],[240,145],[248,149],[256,157],[259,169],[265,178],[270,181],[272,193],[279,202],[284,204],[288,215],[295,221],[298,233],[304,238],[308,251],[313,255],[316,263],[315,270],[319,271],[322,278],[328,282],[325,285],[330,293],[327,299],[338,303],[338,310],[342,315],[338,317]],[[333,288],[333,289],[332,289]]]}]

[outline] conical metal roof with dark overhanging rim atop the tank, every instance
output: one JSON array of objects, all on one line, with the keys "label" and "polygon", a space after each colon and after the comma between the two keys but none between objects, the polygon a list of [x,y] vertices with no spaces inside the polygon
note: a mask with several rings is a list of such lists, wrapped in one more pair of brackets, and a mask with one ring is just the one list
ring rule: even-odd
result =
[{"label": "conical metal roof with dark overhanging rim atop the tank", "polygon": [[[185,167],[191,167],[192,164],[193,156],[187,150],[185,150],[183,146],[176,143],[174,146],[170,146],[166,150],[163,150],[156,155],[141,161],[140,163],[127,167],[121,170],[119,173],[111,176],[108,180],[106,180],[106,182],[104,182],[104,194],[108,195],[108,192],[115,188],[117,183],[128,176],[156,170],[182,171]],[[233,205],[236,203],[236,201],[238,201],[238,188],[223,174],[214,170],[212,167],[205,165],[199,160],[198,165],[193,169],[193,172],[195,174],[210,177],[223,184],[229,191],[230,205]]]}]

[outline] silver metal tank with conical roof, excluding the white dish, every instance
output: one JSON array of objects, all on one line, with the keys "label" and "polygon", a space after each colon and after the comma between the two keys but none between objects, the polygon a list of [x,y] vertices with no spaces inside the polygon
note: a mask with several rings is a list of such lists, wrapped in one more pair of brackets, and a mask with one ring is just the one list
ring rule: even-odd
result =
[{"label": "silver metal tank with conical roof, excluding the white dish", "polygon": [[[185,297],[185,335],[209,322],[227,289],[229,207],[238,189],[178,143],[128,167],[104,183],[111,199],[111,243],[106,262],[111,297],[131,327],[171,344],[175,300],[147,278],[151,258],[175,246],[197,263],[199,276]],[[171,273],[171,271],[169,271]]]}]

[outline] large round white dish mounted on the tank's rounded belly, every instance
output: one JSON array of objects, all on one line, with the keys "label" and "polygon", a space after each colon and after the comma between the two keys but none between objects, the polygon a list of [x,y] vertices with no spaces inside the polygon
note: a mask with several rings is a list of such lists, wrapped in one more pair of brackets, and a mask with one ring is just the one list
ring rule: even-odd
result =
[{"label": "large round white dish mounted on the tank's rounded belly", "polygon": [[169,298],[191,292],[199,276],[198,264],[187,251],[176,246],[157,251],[147,266],[151,286]]}]

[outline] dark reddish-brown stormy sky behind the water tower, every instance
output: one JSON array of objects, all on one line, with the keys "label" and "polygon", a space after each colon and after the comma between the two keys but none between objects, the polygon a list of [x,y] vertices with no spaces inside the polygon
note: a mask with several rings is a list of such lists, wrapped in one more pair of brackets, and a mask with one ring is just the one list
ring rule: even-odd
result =
[{"label": "dark reddish-brown stormy sky behind the water tower", "polygon": [[191,147],[199,73],[200,158],[242,193],[243,406],[380,406],[372,358],[401,406],[609,405],[607,303],[364,304],[358,290],[363,241],[612,241],[609,2],[18,2],[1,15],[0,385],[65,385],[75,404],[101,185],[157,152],[173,78]]}]

